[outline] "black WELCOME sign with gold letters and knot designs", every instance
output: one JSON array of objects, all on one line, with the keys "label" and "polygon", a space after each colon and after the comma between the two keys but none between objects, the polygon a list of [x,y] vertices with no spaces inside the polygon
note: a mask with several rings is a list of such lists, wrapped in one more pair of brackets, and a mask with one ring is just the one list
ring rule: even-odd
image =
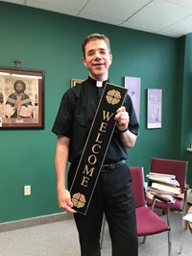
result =
[{"label": "black WELCOME sign with gold letters and knot designs", "polygon": [[[86,214],[127,90],[107,83],[94,116],[70,192],[73,209]],[[81,135],[80,135],[81,136]]]}]

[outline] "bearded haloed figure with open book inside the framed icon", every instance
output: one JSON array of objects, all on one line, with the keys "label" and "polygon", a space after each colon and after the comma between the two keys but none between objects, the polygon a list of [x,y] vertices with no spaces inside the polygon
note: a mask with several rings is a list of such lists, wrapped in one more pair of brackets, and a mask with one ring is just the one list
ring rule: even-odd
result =
[{"label": "bearded haloed figure with open book inside the framed icon", "polygon": [[5,115],[9,118],[33,117],[33,106],[30,97],[25,93],[25,83],[22,80],[16,80],[13,88],[15,91],[6,101]]}]

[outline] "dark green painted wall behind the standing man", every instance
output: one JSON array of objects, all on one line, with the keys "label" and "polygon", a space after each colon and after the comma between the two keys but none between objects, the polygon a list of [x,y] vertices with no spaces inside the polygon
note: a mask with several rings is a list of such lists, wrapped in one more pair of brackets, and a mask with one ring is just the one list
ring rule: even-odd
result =
[{"label": "dark green painted wall behind the standing man", "polygon": [[[185,150],[189,139],[183,136],[190,128],[182,127],[191,116],[184,105],[185,85],[190,88],[184,58],[191,56],[185,47],[191,38],[185,44],[184,39],[1,2],[0,65],[13,67],[18,59],[21,68],[45,71],[45,128],[0,130],[0,222],[60,212],[55,189],[56,137],[51,129],[70,79],[87,77],[81,44],[93,32],[110,38],[112,83],[123,86],[124,76],[141,77],[140,136],[130,152],[129,165],[144,166],[147,172],[152,156],[188,160],[192,155]],[[146,129],[149,88],[163,90],[161,129]],[[192,185],[192,177],[188,182]],[[24,185],[32,186],[31,196],[23,195]]]}]

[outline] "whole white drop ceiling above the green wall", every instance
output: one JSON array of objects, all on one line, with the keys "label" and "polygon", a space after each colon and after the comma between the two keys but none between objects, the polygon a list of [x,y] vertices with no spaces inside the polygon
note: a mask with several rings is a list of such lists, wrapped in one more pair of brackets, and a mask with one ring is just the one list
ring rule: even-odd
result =
[{"label": "whole white drop ceiling above the green wall", "polygon": [[4,0],[3,2],[172,38],[180,38],[192,32],[192,0]]}]

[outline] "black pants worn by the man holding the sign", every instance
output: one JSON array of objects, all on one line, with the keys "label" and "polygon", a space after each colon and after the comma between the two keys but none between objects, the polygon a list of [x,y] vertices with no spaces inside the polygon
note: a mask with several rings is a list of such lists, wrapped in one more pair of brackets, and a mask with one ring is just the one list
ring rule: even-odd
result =
[{"label": "black pants worn by the man holding the sign", "polygon": [[[73,170],[69,171],[69,184]],[[137,256],[138,242],[131,173],[123,165],[101,172],[86,216],[75,214],[82,256],[101,256],[100,233],[103,214],[108,220],[112,256]]]}]

